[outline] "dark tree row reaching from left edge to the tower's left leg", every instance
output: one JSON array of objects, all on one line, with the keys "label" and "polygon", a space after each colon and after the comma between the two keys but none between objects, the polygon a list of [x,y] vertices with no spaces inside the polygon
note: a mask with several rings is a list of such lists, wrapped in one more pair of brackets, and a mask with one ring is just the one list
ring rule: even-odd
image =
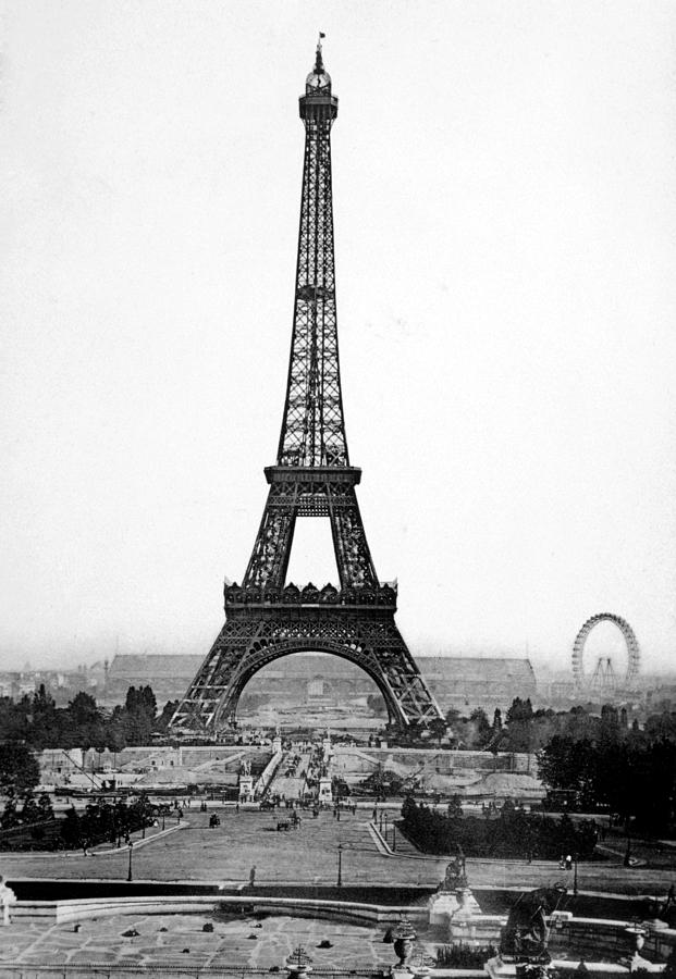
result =
[{"label": "dark tree row reaching from left edge to the tower's left leg", "polygon": [[36,751],[50,747],[95,747],[120,752],[148,744],[153,732],[167,730],[176,702],[160,715],[150,686],[131,686],[124,705],[102,710],[88,693],[77,693],[67,707],[57,707],[41,684],[33,696],[0,698],[0,742],[24,742]]}]

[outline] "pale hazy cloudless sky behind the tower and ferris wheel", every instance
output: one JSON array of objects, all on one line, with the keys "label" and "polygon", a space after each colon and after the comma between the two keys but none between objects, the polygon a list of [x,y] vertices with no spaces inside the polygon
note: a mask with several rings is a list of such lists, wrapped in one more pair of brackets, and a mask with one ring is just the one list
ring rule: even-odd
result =
[{"label": "pale hazy cloudless sky behind the tower and ferris wheel", "polygon": [[[5,2],[3,665],[206,654],[222,624],[279,437],[319,29],[351,459],[414,654],[565,667],[607,610],[665,667],[676,3],[655,0]],[[291,577],[332,567],[302,521]]]}]

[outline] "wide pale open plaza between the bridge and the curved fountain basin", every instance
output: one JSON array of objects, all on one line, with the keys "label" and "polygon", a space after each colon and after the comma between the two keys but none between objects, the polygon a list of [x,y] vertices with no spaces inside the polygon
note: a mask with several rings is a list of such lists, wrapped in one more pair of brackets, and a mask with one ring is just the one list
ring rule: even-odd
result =
[{"label": "wide pale open plaza between the bridge and the curved fountain basin", "polygon": [[[213,804],[211,804],[213,805]],[[383,809],[379,806],[379,809]],[[420,854],[401,833],[391,852],[392,830],[384,847],[371,825],[372,807],[353,814],[341,810],[340,820],[331,809],[321,809],[315,819],[303,810],[297,829],[276,830],[279,813],[257,807],[219,807],[221,825],[209,827],[212,809],[185,810],[181,823],[162,832],[155,828],[146,839],[135,834],[134,881],[208,881],[232,887],[248,884],[256,867],[257,885],[303,883],[323,888],[337,884],[339,844],[342,885],[402,885],[435,888],[443,879],[445,856]],[[284,810],[279,810],[284,813]],[[384,811],[389,826],[398,816],[398,806]],[[640,850],[637,851],[640,854]],[[637,866],[623,866],[623,852],[609,844],[603,860],[580,864],[579,890],[591,893],[613,891],[626,895],[666,893],[676,873],[676,851],[668,845],[647,852]],[[1,872],[10,880],[63,879],[125,881],[127,847],[101,844],[85,856],[81,851],[59,853],[5,853]],[[562,880],[573,888],[573,870],[561,870],[554,862],[468,859],[472,888],[529,889]]]}]

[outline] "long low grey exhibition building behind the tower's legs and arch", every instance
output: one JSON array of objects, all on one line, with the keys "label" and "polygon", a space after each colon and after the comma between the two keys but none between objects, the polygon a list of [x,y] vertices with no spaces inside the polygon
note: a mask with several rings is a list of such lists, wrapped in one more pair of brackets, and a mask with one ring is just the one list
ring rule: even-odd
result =
[{"label": "long low grey exhibition building behind the tower's legs and arch", "polygon": [[[161,707],[183,696],[202,656],[138,654],[115,656],[100,702],[124,701],[130,686],[149,684]],[[419,656],[416,661],[442,709],[506,708],[514,697],[534,697],[536,676],[521,657]],[[378,690],[358,667],[339,656],[296,654],[278,659],[247,684],[244,698],[280,705],[331,707],[366,702]]]}]

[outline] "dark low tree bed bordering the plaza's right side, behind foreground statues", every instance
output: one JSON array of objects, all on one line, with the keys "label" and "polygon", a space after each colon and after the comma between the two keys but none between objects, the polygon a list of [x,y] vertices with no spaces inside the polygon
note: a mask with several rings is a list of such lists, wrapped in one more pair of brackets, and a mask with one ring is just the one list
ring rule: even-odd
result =
[{"label": "dark low tree bed bordering the plaza's right side, behind foreground statues", "polygon": [[407,797],[402,806],[402,829],[423,853],[555,860],[562,854],[590,859],[598,840],[593,821],[574,823],[569,816],[555,820],[526,814],[507,801],[497,817],[444,816]]}]

